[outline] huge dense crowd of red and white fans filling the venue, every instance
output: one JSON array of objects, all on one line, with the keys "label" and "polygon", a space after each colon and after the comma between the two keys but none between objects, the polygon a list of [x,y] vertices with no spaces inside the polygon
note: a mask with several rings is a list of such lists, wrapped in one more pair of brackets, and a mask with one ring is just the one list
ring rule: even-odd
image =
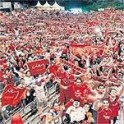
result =
[{"label": "huge dense crowd of red and white fans filling the venue", "polygon": [[[42,111],[44,87],[57,83],[59,101],[41,115],[44,124],[123,124],[123,22],[124,11],[113,8],[88,14],[0,12],[1,90],[10,84],[25,88],[24,104],[36,100]],[[31,73],[28,63],[40,60],[48,60],[45,71]]]}]

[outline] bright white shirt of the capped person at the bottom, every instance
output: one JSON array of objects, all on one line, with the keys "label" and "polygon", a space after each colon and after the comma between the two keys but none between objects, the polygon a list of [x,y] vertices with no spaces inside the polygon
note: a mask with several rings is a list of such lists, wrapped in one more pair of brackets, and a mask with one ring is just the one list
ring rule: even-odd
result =
[{"label": "bright white shirt of the capped person at the bottom", "polygon": [[74,106],[70,106],[67,111],[67,114],[70,115],[71,122],[74,121],[81,121],[85,118],[85,110],[80,106],[78,108],[75,108]]}]

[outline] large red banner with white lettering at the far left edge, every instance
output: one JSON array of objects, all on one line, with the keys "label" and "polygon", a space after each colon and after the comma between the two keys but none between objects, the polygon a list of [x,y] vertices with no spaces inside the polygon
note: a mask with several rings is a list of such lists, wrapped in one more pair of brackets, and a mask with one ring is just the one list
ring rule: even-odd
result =
[{"label": "large red banner with white lettering at the far left edge", "polygon": [[8,84],[2,93],[2,106],[16,106],[26,94],[26,88],[18,88],[12,84]]}]

